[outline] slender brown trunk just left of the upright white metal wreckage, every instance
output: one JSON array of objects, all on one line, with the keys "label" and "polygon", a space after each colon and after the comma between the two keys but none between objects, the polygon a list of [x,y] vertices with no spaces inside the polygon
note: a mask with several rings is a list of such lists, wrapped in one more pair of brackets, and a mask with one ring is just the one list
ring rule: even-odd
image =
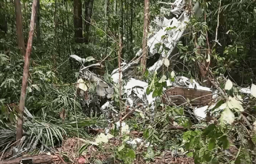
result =
[{"label": "slender brown trunk just left of the upright white metal wreckage", "polygon": [[142,39],[142,74],[146,71],[147,66],[147,34],[149,29],[149,0],[144,0],[144,26]]}]

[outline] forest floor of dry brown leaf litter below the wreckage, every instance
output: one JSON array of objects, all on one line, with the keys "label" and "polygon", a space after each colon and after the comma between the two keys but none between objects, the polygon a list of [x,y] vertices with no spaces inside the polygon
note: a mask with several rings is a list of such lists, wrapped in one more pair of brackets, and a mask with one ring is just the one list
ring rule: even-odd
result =
[{"label": "forest floor of dry brown leaf litter below the wreckage", "polygon": [[[63,147],[59,148],[62,152],[65,152],[68,157],[73,157],[69,159],[70,161],[77,162],[77,150],[78,147],[77,138],[69,138],[63,144]],[[82,143],[80,143],[82,144]],[[81,145],[80,145],[81,146]],[[99,146],[90,145],[87,147],[87,151],[81,154],[78,163],[79,164],[123,164],[127,163],[129,159],[118,160],[115,159],[116,151],[115,147],[119,146],[118,139],[111,139],[108,143],[101,144]],[[154,157],[151,159],[143,159],[143,154],[147,152],[147,147],[137,147],[135,151],[136,159],[129,161],[132,164],[194,164],[194,159],[191,157],[187,157],[186,155],[173,154],[173,152],[168,150],[157,150],[154,152],[158,152],[154,154]],[[61,154],[61,153],[60,153]],[[135,155],[134,154],[134,155]],[[63,157],[63,156],[62,156]],[[129,155],[126,154],[125,158],[129,158]]]}]

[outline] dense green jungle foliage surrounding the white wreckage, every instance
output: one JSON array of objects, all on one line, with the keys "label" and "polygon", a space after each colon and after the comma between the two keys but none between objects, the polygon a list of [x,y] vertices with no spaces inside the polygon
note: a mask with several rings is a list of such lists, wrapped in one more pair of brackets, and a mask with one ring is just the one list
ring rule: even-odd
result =
[{"label": "dense green jungle foliage surrounding the white wreckage", "polygon": [[[15,1],[0,0],[0,152],[5,152],[14,145],[22,86],[24,57],[17,41]],[[25,99],[25,142],[21,145],[20,155],[24,152],[38,154],[54,151],[56,147],[61,147],[62,140],[72,137],[94,140],[95,136],[89,133],[88,127],[107,127],[109,122],[104,116],[88,115],[82,107],[83,100],[77,96],[75,85],[81,64],[70,58],[70,55],[75,54],[84,59],[93,57],[94,60],[87,61],[85,66],[104,59],[104,69],[99,71],[103,71],[106,81],[112,82],[110,73],[118,67],[119,42],[122,42],[122,61],[125,62],[131,61],[142,48],[143,0],[37,1],[40,7],[37,9]],[[150,0],[149,35],[157,30],[152,20],[157,16],[170,16],[169,3],[173,1]],[[205,85],[205,77],[208,76],[225,76],[233,82],[234,87],[248,87],[255,83],[256,1],[185,1],[184,10],[191,10],[199,2],[202,14],[200,17],[191,14],[186,32],[176,46],[179,55],[172,70],[176,76],[194,78],[202,85]],[[20,0],[20,3],[26,47],[32,0]],[[76,17],[77,12],[81,13],[82,19]],[[201,70],[201,65],[206,66],[206,62],[209,63],[207,73]],[[141,71],[140,66],[137,69]],[[143,79],[152,82],[152,79],[159,80],[161,77],[159,73],[157,77],[148,75]],[[157,82],[155,85],[156,88],[157,85],[164,87]],[[224,86],[225,83],[221,83],[223,89]],[[161,94],[162,92],[159,93]],[[228,94],[238,93],[232,88]],[[229,100],[221,98],[217,105]],[[242,107],[247,109],[248,115],[252,115],[252,120],[249,120],[251,123],[256,121],[255,102],[251,98],[249,105]],[[100,144],[97,145],[98,151],[111,152],[114,160],[116,158],[127,164],[133,163],[135,159],[139,160],[139,157],[145,162],[153,162],[154,157],[165,150],[193,157],[195,163],[255,163],[256,136],[252,135],[252,129],[249,132],[249,128],[242,125],[239,116],[241,110],[235,110],[236,107],[232,110],[236,124],[224,126],[215,122],[206,126],[204,123],[192,123],[186,117],[185,108],[164,106],[160,102],[156,106],[153,122],[150,121],[152,115],[147,111],[134,114],[126,122],[131,131],[142,132],[142,138],[153,147],[136,149],[122,144],[116,145],[116,148],[106,148]],[[174,116],[178,116],[175,122],[185,127],[185,130],[174,132],[168,129],[170,117]],[[112,131],[115,137],[117,134],[116,129]],[[125,135],[122,139],[123,142],[128,140]],[[88,145],[89,142],[81,141],[76,148],[78,154],[89,149]],[[235,147],[235,151],[232,152],[230,147]],[[234,157],[227,157],[226,151]],[[1,158],[0,156],[0,161]],[[71,157],[67,159],[72,161]],[[95,156],[91,162],[97,163],[99,159]]]}]

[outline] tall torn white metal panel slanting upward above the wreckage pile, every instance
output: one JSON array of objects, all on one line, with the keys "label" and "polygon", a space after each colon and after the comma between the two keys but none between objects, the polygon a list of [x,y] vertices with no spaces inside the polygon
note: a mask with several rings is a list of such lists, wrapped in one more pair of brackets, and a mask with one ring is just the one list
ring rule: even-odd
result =
[{"label": "tall torn white metal panel slanting upward above the wreckage pile", "polygon": [[[174,14],[176,17],[179,17],[178,19],[175,17],[172,17],[171,19],[164,19],[163,23],[157,23],[161,27],[159,31],[153,33],[152,37],[148,39],[147,45],[149,47],[149,56],[154,56],[155,54],[158,54],[157,49],[155,49],[155,45],[157,43],[164,43],[165,47],[169,48],[167,54],[164,54],[165,52],[162,52],[162,56],[170,56],[171,52],[175,49],[176,43],[181,38],[184,30],[185,30],[185,22],[189,21],[189,15],[184,12],[184,4],[185,0],[175,0],[175,2],[172,5],[172,10],[170,11],[170,15]],[[158,17],[156,17],[155,20],[159,20]],[[167,27],[177,27],[175,29],[165,31]],[[163,35],[168,35],[166,39],[162,39]],[[163,49],[163,47],[160,48]],[[130,71],[133,69],[134,66],[139,65],[140,57],[142,54],[142,49],[140,49],[136,56],[129,64],[123,64],[122,66],[122,76],[128,77],[130,75]],[[153,66],[149,68],[150,71],[158,71],[158,68],[162,66],[162,58],[158,59],[157,63],[155,63]],[[119,77],[118,69],[115,69],[112,71],[111,76],[115,82],[118,82],[117,79]]]}]

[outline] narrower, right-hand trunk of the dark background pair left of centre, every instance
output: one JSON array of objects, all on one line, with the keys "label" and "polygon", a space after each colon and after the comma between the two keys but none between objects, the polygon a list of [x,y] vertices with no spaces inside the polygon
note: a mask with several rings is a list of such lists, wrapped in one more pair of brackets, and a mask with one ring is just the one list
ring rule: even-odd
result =
[{"label": "narrower, right-hand trunk of the dark background pair left of centre", "polygon": [[89,43],[89,32],[90,32],[90,22],[91,22],[91,17],[92,17],[93,2],[94,2],[94,0],[87,0],[87,4],[86,4],[85,44]]}]

